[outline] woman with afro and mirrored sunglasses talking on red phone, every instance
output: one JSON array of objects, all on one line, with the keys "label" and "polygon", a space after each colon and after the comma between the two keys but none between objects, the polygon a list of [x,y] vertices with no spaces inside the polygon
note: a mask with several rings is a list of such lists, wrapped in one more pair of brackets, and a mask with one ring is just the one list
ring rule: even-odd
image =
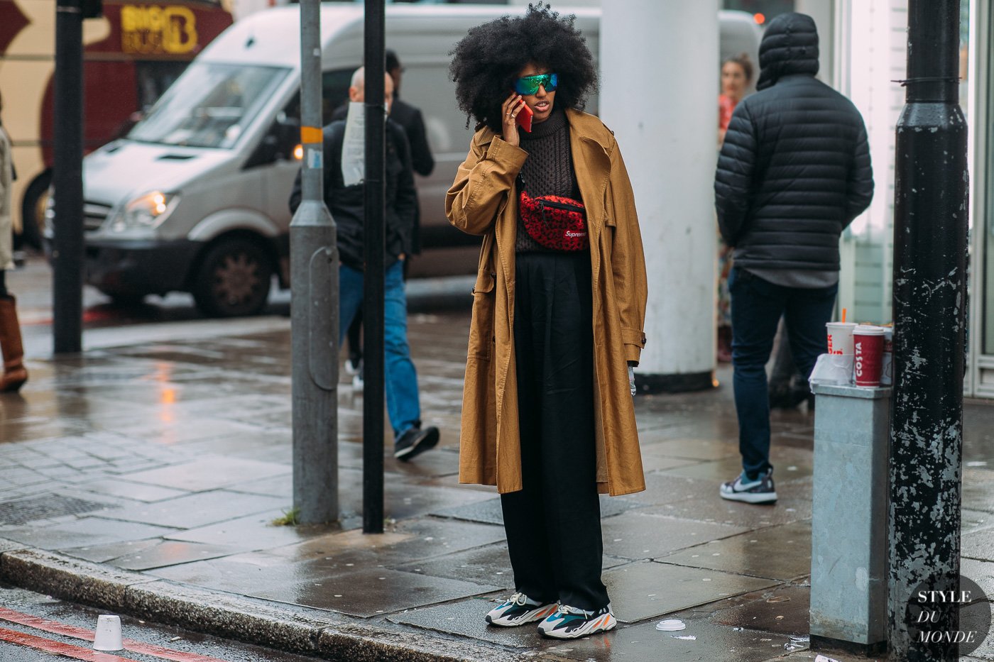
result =
[{"label": "woman with afro and mirrored sunglasses talking on red phone", "polygon": [[[645,489],[630,367],[647,286],[631,184],[613,134],[580,110],[596,72],[574,17],[530,5],[470,30],[452,55],[459,107],[478,124],[445,211],[483,236],[459,480],[501,493],[516,589],[486,621],[541,621],[559,638],[610,630],[598,492]],[[517,123],[529,111],[531,131]]]}]

